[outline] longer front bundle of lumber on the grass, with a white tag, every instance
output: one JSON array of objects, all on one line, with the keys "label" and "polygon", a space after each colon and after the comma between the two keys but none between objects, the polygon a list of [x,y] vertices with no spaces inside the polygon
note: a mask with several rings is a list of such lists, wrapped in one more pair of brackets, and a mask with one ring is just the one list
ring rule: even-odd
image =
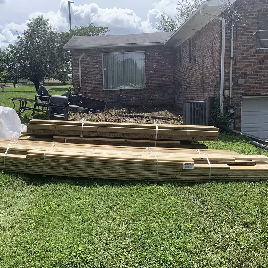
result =
[{"label": "longer front bundle of lumber on the grass, with a white tag", "polygon": [[0,169],[126,180],[268,179],[268,157],[228,150],[145,148],[0,139]]}]

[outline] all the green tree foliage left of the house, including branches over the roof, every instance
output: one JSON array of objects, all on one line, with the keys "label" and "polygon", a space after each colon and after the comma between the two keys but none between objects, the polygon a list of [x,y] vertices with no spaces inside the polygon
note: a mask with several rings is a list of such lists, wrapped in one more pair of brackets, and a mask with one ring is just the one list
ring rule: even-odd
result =
[{"label": "all the green tree foliage left of the house, including branches over the roof", "polygon": [[68,80],[71,73],[71,53],[63,49],[63,46],[72,36],[109,32],[108,27],[96,27],[90,23],[87,27],[75,27],[71,32],[58,33],[43,15],[33,18],[27,26],[18,35],[15,45],[9,45],[7,51],[0,50],[0,73],[1,70],[7,70],[3,77],[6,81],[13,81],[14,85],[19,79],[30,80],[36,90],[44,80]]}]

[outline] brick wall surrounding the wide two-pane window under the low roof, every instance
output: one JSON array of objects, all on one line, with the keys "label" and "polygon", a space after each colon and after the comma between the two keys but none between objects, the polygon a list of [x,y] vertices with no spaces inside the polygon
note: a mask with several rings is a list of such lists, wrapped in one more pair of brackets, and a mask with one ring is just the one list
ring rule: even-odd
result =
[{"label": "brick wall surrounding the wide two-pane window under the low roof", "polygon": [[[102,53],[145,51],[145,89],[103,90]],[[81,59],[82,92],[88,96],[108,101],[113,105],[113,98],[122,95],[125,105],[164,104],[174,101],[173,50],[162,46],[133,48],[74,50],[73,82],[79,86],[78,58]],[[171,99],[170,99],[171,98]]]}]

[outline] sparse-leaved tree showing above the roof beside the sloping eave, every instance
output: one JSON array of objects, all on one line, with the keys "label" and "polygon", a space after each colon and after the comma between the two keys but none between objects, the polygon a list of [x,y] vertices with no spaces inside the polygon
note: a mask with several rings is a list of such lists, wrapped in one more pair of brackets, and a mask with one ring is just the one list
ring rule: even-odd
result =
[{"label": "sparse-leaved tree showing above the roof beside the sloping eave", "polygon": [[158,32],[175,31],[187,18],[197,9],[202,0],[181,0],[178,1],[176,10],[178,14],[173,19],[165,13],[161,13],[158,26]]}]

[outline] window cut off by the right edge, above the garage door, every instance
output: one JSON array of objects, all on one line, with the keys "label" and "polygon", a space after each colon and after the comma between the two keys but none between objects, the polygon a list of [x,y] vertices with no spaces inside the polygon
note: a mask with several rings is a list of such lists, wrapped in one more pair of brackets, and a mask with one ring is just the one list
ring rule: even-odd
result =
[{"label": "window cut off by the right edge, above the garage door", "polygon": [[268,48],[268,13],[262,12],[258,16],[257,22],[257,49]]}]

